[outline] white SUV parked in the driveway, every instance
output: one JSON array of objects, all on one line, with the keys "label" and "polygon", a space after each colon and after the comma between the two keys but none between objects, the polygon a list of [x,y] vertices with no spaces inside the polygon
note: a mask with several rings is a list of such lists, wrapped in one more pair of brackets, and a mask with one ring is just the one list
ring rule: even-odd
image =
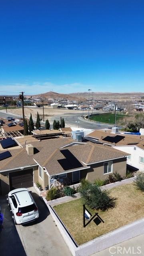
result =
[{"label": "white SUV parked in the driveway", "polygon": [[24,224],[39,217],[38,207],[27,188],[18,188],[8,193],[8,204],[15,224]]}]

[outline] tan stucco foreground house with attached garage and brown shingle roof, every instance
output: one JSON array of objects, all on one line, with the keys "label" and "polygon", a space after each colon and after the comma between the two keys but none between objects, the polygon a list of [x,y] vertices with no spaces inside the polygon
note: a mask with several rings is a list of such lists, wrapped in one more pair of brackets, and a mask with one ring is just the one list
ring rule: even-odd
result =
[{"label": "tan stucco foreground house with attached garage and brown shingle roof", "polygon": [[[70,184],[82,178],[91,182],[106,179],[112,172],[126,175],[126,154],[108,146],[92,142],[76,142],[71,138],[53,138],[25,142],[15,139],[21,148],[0,151],[0,189],[2,194],[20,187],[31,187],[39,181],[42,187],[51,187],[54,177],[68,178]],[[29,143],[29,144],[27,144]]]}]

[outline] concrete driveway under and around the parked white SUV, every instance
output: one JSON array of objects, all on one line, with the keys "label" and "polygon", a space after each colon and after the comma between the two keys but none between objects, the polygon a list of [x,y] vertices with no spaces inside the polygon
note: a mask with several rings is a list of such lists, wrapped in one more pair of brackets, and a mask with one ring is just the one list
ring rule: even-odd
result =
[{"label": "concrete driveway under and around the parked white SUV", "polygon": [[6,198],[0,197],[4,229],[0,234],[0,256],[71,256],[48,208],[32,193],[40,217],[36,222],[14,225]]}]

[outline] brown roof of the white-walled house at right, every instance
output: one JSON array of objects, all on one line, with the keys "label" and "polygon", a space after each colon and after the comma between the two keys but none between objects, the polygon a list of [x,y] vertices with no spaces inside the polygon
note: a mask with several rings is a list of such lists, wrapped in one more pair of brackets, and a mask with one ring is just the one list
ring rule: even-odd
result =
[{"label": "brown roof of the white-walled house at right", "polygon": [[[126,146],[126,145],[132,145],[132,144],[141,144],[144,140],[144,135],[138,136],[138,135],[129,135],[129,134],[113,134],[110,133],[111,130],[95,130],[94,132],[91,132],[88,134],[88,137],[95,138],[99,140],[100,142],[103,142],[105,144],[110,145],[116,145],[116,146]],[[114,142],[108,141],[106,137],[113,137],[117,138],[118,136],[121,136],[121,139],[113,140]]]}]

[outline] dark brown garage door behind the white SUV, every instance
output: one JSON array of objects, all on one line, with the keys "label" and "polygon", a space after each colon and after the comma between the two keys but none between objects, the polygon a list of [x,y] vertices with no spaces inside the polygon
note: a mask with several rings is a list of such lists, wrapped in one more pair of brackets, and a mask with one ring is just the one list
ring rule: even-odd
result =
[{"label": "dark brown garage door behind the white SUV", "polygon": [[33,186],[33,169],[9,173],[10,190],[15,188],[29,188]]}]

